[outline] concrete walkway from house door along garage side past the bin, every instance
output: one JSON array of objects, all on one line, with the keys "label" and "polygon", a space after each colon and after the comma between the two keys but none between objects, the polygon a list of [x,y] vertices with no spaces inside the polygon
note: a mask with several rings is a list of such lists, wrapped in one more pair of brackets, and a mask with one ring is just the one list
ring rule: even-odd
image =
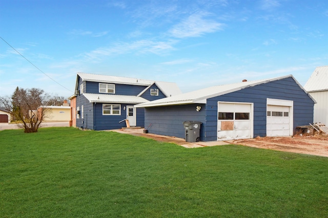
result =
[{"label": "concrete walkway from house door along garage side past the bin", "polygon": [[151,138],[156,141],[163,141],[163,142],[170,142],[178,144],[179,146],[185,147],[185,148],[202,148],[202,147],[210,147],[210,146],[223,146],[226,144],[231,144],[229,142],[225,141],[198,141],[198,142],[186,142],[184,138],[177,138],[172,136],[165,136],[165,135],[156,135],[152,133],[144,133],[143,128],[131,128],[131,129],[118,129],[118,130],[108,130],[112,132],[118,132],[122,134],[130,134],[135,136],[142,136],[146,138]]}]

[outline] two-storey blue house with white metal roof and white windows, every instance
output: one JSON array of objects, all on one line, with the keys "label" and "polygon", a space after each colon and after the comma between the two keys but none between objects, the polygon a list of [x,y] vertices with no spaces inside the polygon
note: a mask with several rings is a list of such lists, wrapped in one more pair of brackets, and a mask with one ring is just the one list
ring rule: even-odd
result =
[{"label": "two-storey blue house with white metal roof and white windows", "polygon": [[[91,130],[145,126],[144,108],[134,105],[180,94],[176,83],[77,73],[76,127]],[[72,99],[71,99],[72,101]],[[74,112],[73,112],[74,113]]]}]

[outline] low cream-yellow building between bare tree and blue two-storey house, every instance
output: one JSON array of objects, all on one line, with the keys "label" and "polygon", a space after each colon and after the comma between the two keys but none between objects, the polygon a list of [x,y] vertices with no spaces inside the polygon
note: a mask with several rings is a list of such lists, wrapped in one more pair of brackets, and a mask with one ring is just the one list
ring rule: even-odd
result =
[{"label": "low cream-yellow building between bare tree and blue two-storey house", "polygon": [[41,108],[49,109],[43,122],[69,122],[71,119],[70,106],[41,106]]}]

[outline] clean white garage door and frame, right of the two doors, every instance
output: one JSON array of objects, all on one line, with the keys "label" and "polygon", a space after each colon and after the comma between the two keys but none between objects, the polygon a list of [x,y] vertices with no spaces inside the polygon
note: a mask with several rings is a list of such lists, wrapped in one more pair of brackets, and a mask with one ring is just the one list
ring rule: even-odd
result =
[{"label": "clean white garage door and frame, right of the two doors", "polygon": [[[267,105],[267,136],[293,135],[293,102],[279,101],[282,105],[270,105],[275,101],[269,101]],[[276,101],[276,104],[279,103]]]}]

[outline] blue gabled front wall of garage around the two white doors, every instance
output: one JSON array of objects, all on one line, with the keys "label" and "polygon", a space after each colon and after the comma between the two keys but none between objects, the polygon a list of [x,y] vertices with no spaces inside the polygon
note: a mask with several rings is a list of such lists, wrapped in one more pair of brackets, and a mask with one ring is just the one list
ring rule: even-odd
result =
[{"label": "blue gabled front wall of garage around the two white doors", "polygon": [[207,140],[216,140],[217,128],[215,124],[217,122],[218,101],[254,103],[254,137],[266,136],[267,98],[294,102],[293,129],[297,126],[313,123],[314,102],[292,78],[285,78],[208,99]]}]

